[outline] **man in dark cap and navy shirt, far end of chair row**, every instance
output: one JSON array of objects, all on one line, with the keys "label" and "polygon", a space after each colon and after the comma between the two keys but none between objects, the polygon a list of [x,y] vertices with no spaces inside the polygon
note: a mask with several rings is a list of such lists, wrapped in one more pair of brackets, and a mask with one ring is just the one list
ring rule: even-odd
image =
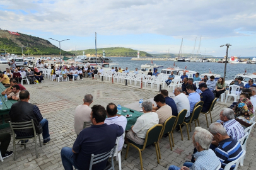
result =
[{"label": "man in dark cap and navy shirt, far end of chair row", "polygon": [[207,85],[205,82],[199,84],[199,89],[203,92],[200,97],[201,101],[204,101],[204,105],[202,105],[202,112],[206,113],[209,111],[209,108],[211,107],[212,101],[214,100],[214,94],[211,90],[207,88]]}]

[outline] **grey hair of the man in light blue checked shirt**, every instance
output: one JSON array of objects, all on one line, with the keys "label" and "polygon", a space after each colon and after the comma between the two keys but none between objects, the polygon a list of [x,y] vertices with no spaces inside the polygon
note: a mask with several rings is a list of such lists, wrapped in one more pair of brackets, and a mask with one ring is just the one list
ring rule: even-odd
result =
[{"label": "grey hair of the man in light blue checked shirt", "polygon": [[201,145],[202,149],[208,150],[213,139],[213,135],[206,129],[195,127],[194,133],[195,142]]}]

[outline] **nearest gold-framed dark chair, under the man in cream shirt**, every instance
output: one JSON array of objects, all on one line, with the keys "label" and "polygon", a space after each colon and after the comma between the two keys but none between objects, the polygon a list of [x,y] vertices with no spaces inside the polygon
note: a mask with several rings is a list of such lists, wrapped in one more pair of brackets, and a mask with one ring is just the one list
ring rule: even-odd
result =
[{"label": "nearest gold-framed dark chair, under the man in cream shirt", "polygon": [[[127,145],[126,154],[125,154],[124,159],[127,159],[129,147],[130,147],[130,145],[132,145],[139,151],[139,159],[141,161],[141,170],[143,170],[143,159],[141,156],[141,152],[146,148],[146,146],[154,144],[154,147],[156,147],[156,157],[158,159],[158,164],[159,164],[160,163],[159,159],[161,159],[159,139],[161,137],[162,130],[163,130],[163,125],[160,125],[160,124],[154,125],[153,127],[149,128],[148,132],[146,133],[144,145],[136,144],[132,140],[128,139],[129,144]],[[159,157],[158,157],[158,154],[159,154]]]}]

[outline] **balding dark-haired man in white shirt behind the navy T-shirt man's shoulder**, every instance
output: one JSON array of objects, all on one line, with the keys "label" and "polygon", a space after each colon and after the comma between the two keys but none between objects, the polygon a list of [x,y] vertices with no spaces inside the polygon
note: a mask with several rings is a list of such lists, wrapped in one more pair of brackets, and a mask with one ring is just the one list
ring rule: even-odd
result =
[{"label": "balding dark-haired man in white shirt behind the navy T-shirt man's shoulder", "polygon": [[[127,125],[127,119],[123,115],[117,115],[117,105],[115,105],[114,103],[108,103],[107,116],[108,118],[105,119],[104,123],[107,123],[107,125],[117,124],[121,126],[125,131],[125,128]],[[123,145],[124,145],[124,139],[123,137],[120,137],[118,148],[117,148],[119,152],[122,150]]]}]

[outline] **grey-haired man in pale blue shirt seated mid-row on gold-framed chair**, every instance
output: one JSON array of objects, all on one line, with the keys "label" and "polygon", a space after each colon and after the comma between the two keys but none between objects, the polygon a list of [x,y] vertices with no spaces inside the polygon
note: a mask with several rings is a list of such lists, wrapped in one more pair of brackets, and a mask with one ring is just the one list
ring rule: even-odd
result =
[{"label": "grey-haired man in pale blue shirt seated mid-row on gold-framed chair", "polygon": [[[187,110],[187,114],[186,114],[185,117],[186,118],[189,117],[190,116],[189,99],[187,98],[187,96],[184,93],[182,93],[182,88],[175,88],[174,94],[175,94],[176,97],[173,100],[174,100],[174,102],[177,105],[178,114],[183,109],[186,109]],[[180,127],[177,126],[176,127],[176,131],[179,131],[179,130],[180,130]]]}]

